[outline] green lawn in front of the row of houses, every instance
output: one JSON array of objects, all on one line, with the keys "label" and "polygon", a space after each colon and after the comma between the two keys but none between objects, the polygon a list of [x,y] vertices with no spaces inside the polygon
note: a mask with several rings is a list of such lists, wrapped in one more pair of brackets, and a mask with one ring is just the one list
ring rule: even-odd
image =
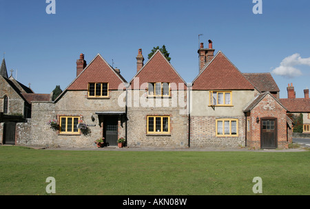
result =
[{"label": "green lawn in front of the row of houses", "polygon": [[310,152],[134,152],[0,146],[0,195],[310,195]]}]

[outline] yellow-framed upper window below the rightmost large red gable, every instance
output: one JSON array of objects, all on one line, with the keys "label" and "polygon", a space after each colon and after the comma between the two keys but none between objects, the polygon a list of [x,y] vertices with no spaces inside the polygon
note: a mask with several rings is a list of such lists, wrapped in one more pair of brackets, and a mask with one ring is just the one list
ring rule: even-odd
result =
[{"label": "yellow-framed upper window below the rightmost large red gable", "polygon": [[232,106],[231,91],[210,91],[209,106]]}]

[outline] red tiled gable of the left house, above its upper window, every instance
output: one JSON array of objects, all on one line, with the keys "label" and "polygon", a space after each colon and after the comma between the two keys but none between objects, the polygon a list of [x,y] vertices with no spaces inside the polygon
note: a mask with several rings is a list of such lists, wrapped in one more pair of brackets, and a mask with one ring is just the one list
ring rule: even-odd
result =
[{"label": "red tiled gable of the left house, above its upper window", "polygon": [[[118,86],[125,82],[125,79],[97,54],[66,90],[88,90],[88,83],[109,83],[109,90],[118,90]],[[125,88],[125,85],[122,88]]]}]

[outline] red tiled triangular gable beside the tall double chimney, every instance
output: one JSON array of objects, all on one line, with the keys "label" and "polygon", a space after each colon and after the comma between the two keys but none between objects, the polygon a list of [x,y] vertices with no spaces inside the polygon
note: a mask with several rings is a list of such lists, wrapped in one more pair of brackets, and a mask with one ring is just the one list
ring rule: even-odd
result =
[{"label": "red tiled triangular gable beside the tall double chimney", "polygon": [[254,86],[221,51],[192,83],[193,90],[254,90]]}]

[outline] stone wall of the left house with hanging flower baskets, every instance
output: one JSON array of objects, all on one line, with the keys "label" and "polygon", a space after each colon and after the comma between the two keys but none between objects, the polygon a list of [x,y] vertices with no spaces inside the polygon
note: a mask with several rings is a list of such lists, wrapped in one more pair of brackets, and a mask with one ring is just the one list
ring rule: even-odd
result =
[{"label": "stone wall of the left house with hanging flower baskets", "polygon": [[[19,126],[19,144],[46,147],[83,147],[95,146],[94,141],[103,137],[102,121],[95,112],[124,111],[118,106],[118,96],[123,91],[111,91],[110,99],[88,99],[87,91],[68,91],[56,103],[32,102],[32,119],[27,125]],[[61,134],[47,124],[60,116],[78,116],[88,125],[90,132],[84,135]],[[23,135],[23,130],[30,129],[30,137]],[[119,122],[118,137],[125,137],[125,121]]]}]

